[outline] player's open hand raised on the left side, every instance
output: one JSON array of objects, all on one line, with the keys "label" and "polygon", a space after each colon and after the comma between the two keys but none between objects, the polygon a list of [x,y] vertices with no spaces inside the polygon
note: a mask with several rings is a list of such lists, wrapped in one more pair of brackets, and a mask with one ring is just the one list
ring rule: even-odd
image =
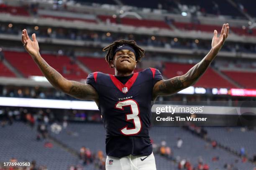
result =
[{"label": "player's open hand raised on the left side", "polygon": [[39,53],[39,45],[36,40],[36,34],[32,35],[33,41],[29,38],[28,32],[26,29],[22,30],[21,42],[23,43],[26,51],[32,56],[35,57]]}]

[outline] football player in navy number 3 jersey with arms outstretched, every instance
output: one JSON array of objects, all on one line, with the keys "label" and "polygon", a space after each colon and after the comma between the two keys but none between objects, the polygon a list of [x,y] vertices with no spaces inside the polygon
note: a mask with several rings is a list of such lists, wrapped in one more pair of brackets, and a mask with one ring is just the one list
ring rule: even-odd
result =
[{"label": "football player in navy number 3 jersey with arms outstretched", "polygon": [[106,130],[106,170],[156,170],[148,135],[151,101],[194,85],[223,46],[228,30],[228,24],[224,24],[219,37],[215,30],[212,48],[202,61],[186,74],[169,80],[163,80],[154,68],[134,72],[145,50],[133,40],[119,40],[105,47],[105,59],[115,75],[94,72],[88,75],[86,84],[67,80],[48,65],[39,53],[36,34],[31,40],[23,30],[22,43],[51,85],[78,99],[97,103]]}]

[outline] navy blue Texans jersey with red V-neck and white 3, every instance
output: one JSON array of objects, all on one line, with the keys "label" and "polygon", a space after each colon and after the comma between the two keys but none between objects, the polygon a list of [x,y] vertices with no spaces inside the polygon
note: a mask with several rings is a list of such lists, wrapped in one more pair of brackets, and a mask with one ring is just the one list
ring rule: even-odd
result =
[{"label": "navy blue Texans jersey with red V-neck and white 3", "polygon": [[87,77],[99,95],[99,110],[106,130],[108,156],[150,155],[152,145],[151,101],[155,83],[163,77],[159,70],[136,72],[123,84],[115,75],[94,72]]}]

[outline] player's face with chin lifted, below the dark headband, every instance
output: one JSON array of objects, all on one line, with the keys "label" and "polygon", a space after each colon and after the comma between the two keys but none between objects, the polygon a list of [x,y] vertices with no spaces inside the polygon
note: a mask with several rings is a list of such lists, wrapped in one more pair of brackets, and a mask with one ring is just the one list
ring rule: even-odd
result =
[{"label": "player's face with chin lifted, below the dark headband", "polygon": [[118,72],[132,72],[136,68],[136,57],[130,50],[119,50],[115,53],[111,66]]}]

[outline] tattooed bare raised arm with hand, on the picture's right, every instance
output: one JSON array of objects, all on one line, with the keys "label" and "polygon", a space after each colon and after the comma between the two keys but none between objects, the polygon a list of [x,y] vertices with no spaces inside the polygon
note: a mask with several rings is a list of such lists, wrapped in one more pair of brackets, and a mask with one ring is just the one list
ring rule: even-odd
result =
[{"label": "tattooed bare raised arm with hand, on the picture's right", "polygon": [[221,47],[223,46],[226,38],[228,37],[228,24],[223,24],[220,37],[217,36],[217,30],[214,30],[214,36],[212,38],[212,49],[210,52],[194,67],[192,67],[186,74],[173,77],[169,80],[160,80],[154,85],[153,99],[155,100],[159,95],[172,95],[180,90],[183,90],[191,85],[194,85],[197,80],[204,74],[209,67],[210,63]]}]

